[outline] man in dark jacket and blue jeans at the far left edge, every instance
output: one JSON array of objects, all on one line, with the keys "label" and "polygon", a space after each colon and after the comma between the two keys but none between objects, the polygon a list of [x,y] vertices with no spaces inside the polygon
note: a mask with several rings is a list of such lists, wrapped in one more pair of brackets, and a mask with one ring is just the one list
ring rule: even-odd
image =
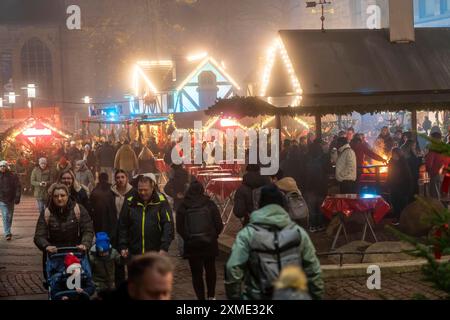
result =
[{"label": "man in dark jacket and blue jeans at the far left edge", "polygon": [[20,203],[19,178],[8,168],[6,161],[0,161],[0,211],[3,218],[3,232],[7,241],[12,238],[11,225],[14,205]]}]

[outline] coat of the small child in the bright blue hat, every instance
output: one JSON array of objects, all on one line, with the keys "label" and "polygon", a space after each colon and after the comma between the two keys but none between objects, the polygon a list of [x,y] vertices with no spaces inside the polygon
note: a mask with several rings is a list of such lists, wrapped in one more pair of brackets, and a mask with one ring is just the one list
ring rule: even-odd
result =
[{"label": "coat of the small child in the bright blue hat", "polygon": [[109,255],[101,257],[97,254],[96,246],[92,246],[89,251],[89,262],[92,269],[92,280],[97,291],[114,289],[116,264],[119,264],[120,261],[120,254],[116,249],[111,249]]}]

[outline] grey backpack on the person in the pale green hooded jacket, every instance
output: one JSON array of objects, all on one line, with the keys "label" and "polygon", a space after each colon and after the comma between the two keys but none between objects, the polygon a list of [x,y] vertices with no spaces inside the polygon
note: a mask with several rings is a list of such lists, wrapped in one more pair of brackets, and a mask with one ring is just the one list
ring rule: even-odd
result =
[{"label": "grey backpack on the person in the pale green hooded jacket", "polygon": [[284,229],[249,224],[254,229],[250,241],[250,274],[259,282],[262,299],[271,299],[274,282],[287,265],[301,266],[300,232],[295,223]]}]

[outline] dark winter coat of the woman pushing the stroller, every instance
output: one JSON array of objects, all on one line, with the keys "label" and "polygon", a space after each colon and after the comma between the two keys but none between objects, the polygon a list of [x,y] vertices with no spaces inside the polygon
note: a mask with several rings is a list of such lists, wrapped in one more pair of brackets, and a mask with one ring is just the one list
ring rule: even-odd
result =
[{"label": "dark winter coat of the woman pushing the stroller", "polygon": [[78,220],[74,201],[69,199],[64,208],[58,208],[51,203],[48,224],[44,215],[39,216],[34,244],[42,251],[48,246],[75,247],[83,244],[86,248],[90,248],[94,239],[94,226],[86,209],[82,206],[79,208]]}]

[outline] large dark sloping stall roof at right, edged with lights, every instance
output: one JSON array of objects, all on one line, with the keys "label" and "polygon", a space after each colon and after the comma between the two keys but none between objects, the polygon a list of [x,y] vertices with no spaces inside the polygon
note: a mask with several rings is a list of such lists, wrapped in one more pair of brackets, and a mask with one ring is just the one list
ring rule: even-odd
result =
[{"label": "large dark sloping stall roof at right, edged with lights", "polygon": [[[303,91],[296,104],[303,110],[295,113],[450,108],[450,28],[415,32],[415,42],[397,44],[389,41],[384,29],[280,31]],[[279,96],[274,75],[267,97]]]}]

